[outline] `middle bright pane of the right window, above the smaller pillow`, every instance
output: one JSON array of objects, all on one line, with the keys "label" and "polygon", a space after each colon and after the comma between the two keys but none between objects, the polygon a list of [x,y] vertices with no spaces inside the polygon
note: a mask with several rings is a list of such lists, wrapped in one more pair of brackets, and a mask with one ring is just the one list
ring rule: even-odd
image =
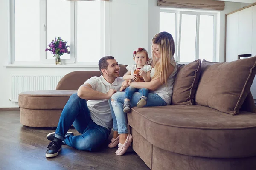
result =
[{"label": "middle bright pane of the right window, above the smaller pillow", "polygon": [[195,60],[196,15],[182,14],[180,37],[180,62]]}]

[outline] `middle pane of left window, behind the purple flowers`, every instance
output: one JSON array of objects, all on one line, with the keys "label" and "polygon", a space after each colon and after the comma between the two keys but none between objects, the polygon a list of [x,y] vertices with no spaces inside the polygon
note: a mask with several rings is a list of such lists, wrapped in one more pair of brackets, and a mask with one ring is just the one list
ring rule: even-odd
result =
[{"label": "middle pane of left window, behind the purple flowers", "polygon": [[[61,37],[70,45],[70,1],[47,0],[47,45],[55,37]],[[55,59],[53,55],[47,51],[47,59]],[[61,59],[70,59],[70,54],[63,54]]]}]

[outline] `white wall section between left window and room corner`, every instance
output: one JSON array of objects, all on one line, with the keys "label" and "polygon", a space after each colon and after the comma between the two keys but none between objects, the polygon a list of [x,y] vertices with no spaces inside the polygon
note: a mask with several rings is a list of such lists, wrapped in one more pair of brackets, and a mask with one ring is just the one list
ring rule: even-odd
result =
[{"label": "white wall section between left window and room corner", "polygon": [[111,55],[133,64],[133,51],[148,47],[148,0],[111,0],[110,12]]}]

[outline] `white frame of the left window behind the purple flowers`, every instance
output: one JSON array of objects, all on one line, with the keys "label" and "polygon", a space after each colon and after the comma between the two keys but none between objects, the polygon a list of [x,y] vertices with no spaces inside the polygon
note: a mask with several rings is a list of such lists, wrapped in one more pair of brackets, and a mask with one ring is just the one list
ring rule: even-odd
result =
[{"label": "white frame of the left window behind the purple flowers", "polygon": [[[55,59],[47,59],[47,52],[45,52],[45,49],[47,48],[47,45],[50,42],[47,42],[47,0],[40,0],[40,61],[15,61],[15,14],[14,14],[14,8],[15,8],[15,0],[9,1],[9,23],[10,23],[10,34],[9,34],[9,50],[10,50],[10,56],[9,56],[9,64],[12,65],[45,65],[45,64],[55,64]],[[97,62],[78,62],[77,61],[77,1],[70,1],[70,42],[68,44],[70,45],[70,59],[61,59],[62,63],[64,65],[98,65]],[[105,3],[105,1],[100,1],[100,34],[102,41],[100,41],[101,50],[100,54],[101,56],[104,56],[104,54],[110,49],[108,47],[105,47],[105,43],[109,42],[109,37],[105,37],[106,33],[108,33],[110,28],[110,22],[108,21],[109,17],[109,4]],[[72,20],[73,18],[73,20]],[[107,20],[106,20],[107,19]],[[107,28],[107,30],[105,30]],[[53,54],[52,54],[53,55]]]}]

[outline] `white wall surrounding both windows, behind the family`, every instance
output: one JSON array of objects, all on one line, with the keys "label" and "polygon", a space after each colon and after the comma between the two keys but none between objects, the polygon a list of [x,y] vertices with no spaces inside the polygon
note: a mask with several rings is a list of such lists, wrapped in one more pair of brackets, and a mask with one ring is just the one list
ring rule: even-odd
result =
[{"label": "white wall surrounding both windows, behind the family", "polygon": [[[10,102],[12,74],[67,74],[78,70],[98,68],[26,68],[5,67],[8,62],[8,1],[0,0],[0,108],[18,107]],[[159,32],[159,7],[157,0],[111,0],[110,46],[108,50],[120,64],[132,64],[132,53],[144,47],[151,53],[151,39]],[[225,14],[241,8],[243,3],[226,3],[220,15],[220,61],[224,60]]]}]

